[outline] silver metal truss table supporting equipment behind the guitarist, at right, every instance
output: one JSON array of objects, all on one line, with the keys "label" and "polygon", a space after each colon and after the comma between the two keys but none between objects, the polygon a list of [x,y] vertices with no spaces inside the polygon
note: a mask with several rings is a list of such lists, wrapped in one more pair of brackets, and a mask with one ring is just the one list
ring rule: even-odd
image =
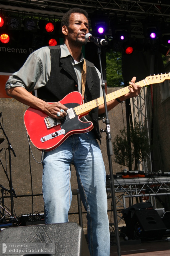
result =
[{"label": "silver metal truss table supporting equipment behind the guitarist, at right", "polygon": [[[122,220],[121,211],[129,206],[138,202],[151,202],[153,208],[157,208],[157,202],[162,202],[160,196],[170,195],[170,175],[163,177],[119,178],[114,179],[114,185],[118,223]],[[110,180],[106,182],[106,191],[107,198],[110,199]],[[111,224],[111,226],[114,226],[114,223]]]}]

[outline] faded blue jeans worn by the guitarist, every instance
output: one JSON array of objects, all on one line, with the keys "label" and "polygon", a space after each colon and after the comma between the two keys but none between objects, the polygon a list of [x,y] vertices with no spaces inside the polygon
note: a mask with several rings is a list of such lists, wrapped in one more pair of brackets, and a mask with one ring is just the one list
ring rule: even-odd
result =
[{"label": "faded blue jeans worn by the guitarist", "polygon": [[87,211],[90,254],[109,256],[106,174],[92,131],[71,135],[53,151],[45,152],[42,177],[45,223],[68,222],[71,164],[75,166],[80,197]]}]

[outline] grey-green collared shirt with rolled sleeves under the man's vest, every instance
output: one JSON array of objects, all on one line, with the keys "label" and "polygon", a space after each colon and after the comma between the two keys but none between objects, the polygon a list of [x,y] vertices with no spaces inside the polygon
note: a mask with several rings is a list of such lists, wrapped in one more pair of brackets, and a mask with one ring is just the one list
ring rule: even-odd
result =
[{"label": "grey-green collared shirt with rolled sleeves under the man's vest", "polygon": [[[61,58],[71,55],[65,44],[61,45]],[[80,62],[74,60],[71,56],[72,65],[74,66],[77,79],[78,79],[78,91],[81,92],[81,62],[84,60],[83,54],[81,53]],[[101,74],[98,72],[100,82]],[[23,87],[27,91],[31,92],[45,86],[48,82],[51,72],[51,55],[50,49],[45,46],[34,51],[26,60],[25,64],[20,68],[19,71],[15,72],[9,77],[6,82],[6,89],[12,87]],[[101,95],[103,96],[102,89]]]}]

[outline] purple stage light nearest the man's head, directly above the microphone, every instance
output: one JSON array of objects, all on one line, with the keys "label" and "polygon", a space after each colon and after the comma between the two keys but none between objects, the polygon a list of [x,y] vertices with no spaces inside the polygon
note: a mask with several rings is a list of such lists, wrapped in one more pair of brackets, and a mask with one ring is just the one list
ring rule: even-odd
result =
[{"label": "purple stage light nearest the man's head, directly above the microphone", "polygon": [[109,18],[106,12],[97,10],[91,15],[93,35],[105,35],[109,31]]}]

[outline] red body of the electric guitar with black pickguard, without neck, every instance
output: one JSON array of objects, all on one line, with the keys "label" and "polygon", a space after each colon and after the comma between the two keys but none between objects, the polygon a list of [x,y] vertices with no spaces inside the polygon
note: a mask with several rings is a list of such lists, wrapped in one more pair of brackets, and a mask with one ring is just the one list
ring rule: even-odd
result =
[{"label": "red body of the electric guitar with black pickguard, without neck", "polygon": [[[79,96],[77,92],[74,92],[74,95],[75,99]],[[68,95],[66,99],[68,102]],[[80,99],[77,101],[80,102]],[[74,111],[75,107],[81,105],[79,102],[62,102],[68,110],[67,115],[61,119],[53,119],[41,110],[29,108],[24,115],[24,121],[31,142],[39,150],[51,151],[62,144],[70,135],[91,131],[93,129],[92,122],[80,121],[79,115],[76,115]]]}]

